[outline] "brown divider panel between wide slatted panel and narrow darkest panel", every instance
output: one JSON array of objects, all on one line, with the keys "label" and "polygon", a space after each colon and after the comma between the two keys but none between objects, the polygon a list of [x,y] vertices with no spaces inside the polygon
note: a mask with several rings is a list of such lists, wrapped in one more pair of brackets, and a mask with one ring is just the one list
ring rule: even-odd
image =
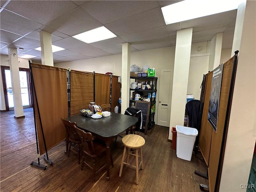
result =
[{"label": "brown divider panel between wide slatted panel and narrow darkest panel", "polygon": [[110,75],[95,74],[95,103],[110,104]]}]

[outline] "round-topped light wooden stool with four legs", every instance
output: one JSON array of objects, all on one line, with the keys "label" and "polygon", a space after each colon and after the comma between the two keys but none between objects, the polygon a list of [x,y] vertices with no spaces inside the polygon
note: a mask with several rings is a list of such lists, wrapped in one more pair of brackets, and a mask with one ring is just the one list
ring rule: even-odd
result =
[{"label": "round-topped light wooden stool with four legs", "polygon": [[[122,156],[122,162],[120,167],[119,176],[122,175],[123,166],[128,165],[136,168],[136,184],[138,184],[138,177],[139,177],[139,168],[144,169],[143,166],[143,158],[142,158],[142,146],[145,144],[145,139],[142,136],[135,135],[135,134],[129,134],[122,138],[122,142],[124,144],[124,152]],[[132,154],[129,152],[129,148],[135,149],[135,154]],[[140,156],[138,155],[138,150],[140,149]],[[125,160],[127,151],[127,157]],[[136,156],[136,166],[129,164],[129,156],[134,155]],[[140,157],[140,164],[139,164],[139,157]]]}]

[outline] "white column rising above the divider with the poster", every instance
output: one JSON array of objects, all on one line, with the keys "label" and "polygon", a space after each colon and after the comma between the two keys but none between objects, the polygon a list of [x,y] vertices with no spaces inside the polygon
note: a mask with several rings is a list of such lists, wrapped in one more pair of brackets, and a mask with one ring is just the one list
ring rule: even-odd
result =
[{"label": "white column rising above the divider with the poster", "polygon": [[211,45],[210,45],[211,52],[210,52],[210,58],[209,58],[208,71],[212,71],[220,65],[222,36],[223,36],[223,33],[216,33],[211,40]]}]

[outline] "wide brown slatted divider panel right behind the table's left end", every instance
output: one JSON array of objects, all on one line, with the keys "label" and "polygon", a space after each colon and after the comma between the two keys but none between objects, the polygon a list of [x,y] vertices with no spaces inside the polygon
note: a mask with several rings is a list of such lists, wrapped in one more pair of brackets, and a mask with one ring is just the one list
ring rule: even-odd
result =
[{"label": "wide brown slatted divider panel right behind the table's left end", "polygon": [[79,114],[82,109],[89,108],[90,102],[93,101],[93,78],[94,74],[90,72],[70,71],[71,116]]}]

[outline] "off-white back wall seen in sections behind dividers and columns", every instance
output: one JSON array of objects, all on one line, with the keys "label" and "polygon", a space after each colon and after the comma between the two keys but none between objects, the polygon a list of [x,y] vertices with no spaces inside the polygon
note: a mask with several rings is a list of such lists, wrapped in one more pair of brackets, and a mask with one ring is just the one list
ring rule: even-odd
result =
[{"label": "off-white back wall seen in sections behind dividers and columns", "polygon": [[[202,47],[201,51],[197,51],[198,46]],[[203,75],[208,72],[208,62],[210,55],[210,42],[193,43],[191,46],[191,58],[190,58],[190,72],[188,77],[188,94],[194,94],[195,99],[200,99],[200,86],[202,83]],[[221,62],[226,62],[230,58],[231,49],[222,50]],[[160,69],[173,69],[174,68],[174,55],[175,46],[150,49],[144,51],[131,52],[130,64],[136,64],[143,68],[144,65],[148,65],[151,68],[156,69],[156,77],[160,76]],[[1,55],[1,65],[9,66],[8,56]],[[29,59],[18,58],[19,66],[22,68],[29,68]],[[33,60],[32,60],[33,62]],[[34,62],[33,62],[34,63]],[[73,70],[80,70],[86,72],[103,73],[112,72],[118,76],[122,72],[122,54],[116,54],[111,56],[104,56],[99,58],[90,58],[84,60],[76,60],[73,62],[63,62],[54,64],[55,67],[68,68]],[[159,79],[158,79],[159,82]],[[159,83],[157,89],[159,89]],[[158,109],[158,93],[156,93],[156,110]],[[1,100],[4,98],[3,90],[1,89]],[[3,102],[3,101],[2,101]],[[5,106],[1,110],[5,110]],[[155,116],[157,120],[157,114]],[[157,122],[157,121],[156,121]]]}]

